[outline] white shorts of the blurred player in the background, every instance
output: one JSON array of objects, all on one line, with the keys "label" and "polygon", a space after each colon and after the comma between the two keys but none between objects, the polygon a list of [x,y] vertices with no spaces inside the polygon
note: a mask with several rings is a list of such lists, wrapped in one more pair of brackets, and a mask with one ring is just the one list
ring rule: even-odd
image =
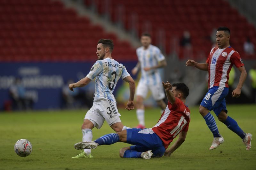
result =
[{"label": "white shorts of the blurred player in the background", "polygon": [[157,85],[147,85],[142,81],[139,81],[139,84],[136,89],[136,96],[141,96],[144,99],[147,97],[148,89],[151,91],[154,100],[162,100],[164,99],[164,88],[162,83],[158,83]]}]

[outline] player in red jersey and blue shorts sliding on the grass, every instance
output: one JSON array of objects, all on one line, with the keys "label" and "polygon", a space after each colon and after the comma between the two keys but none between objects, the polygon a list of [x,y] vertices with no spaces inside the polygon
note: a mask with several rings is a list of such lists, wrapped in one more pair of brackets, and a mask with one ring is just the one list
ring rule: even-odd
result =
[{"label": "player in red jersey and blue shorts sliding on the grass", "polygon": [[[153,128],[132,128],[107,134],[92,142],[76,143],[74,145],[75,149],[95,149],[99,145],[124,142],[133,145],[120,150],[121,158],[150,159],[163,155],[170,156],[186,139],[190,111],[185,105],[185,100],[189,90],[184,83],[171,85],[169,82],[162,82],[162,84],[168,98],[168,105]],[[178,134],[180,134],[179,139],[170,149],[166,150]]]}]

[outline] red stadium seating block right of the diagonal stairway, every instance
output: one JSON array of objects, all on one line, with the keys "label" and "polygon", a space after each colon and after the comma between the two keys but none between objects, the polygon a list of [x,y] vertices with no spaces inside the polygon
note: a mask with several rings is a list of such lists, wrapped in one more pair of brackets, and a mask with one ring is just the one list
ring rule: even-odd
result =
[{"label": "red stadium seating block right of the diagonal stairway", "polygon": [[[87,6],[92,4],[92,0],[84,0]],[[97,11],[104,14],[106,1],[94,0]],[[212,47],[210,35],[213,28],[227,26],[231,30],[230,45],[235,48],[243,58],[250,59],[252,55],[245,55],[243,43],[247,37],[251,38],[256,45],[255,27],[248,23],[227,1],[212,0],[108,0],[111,19],[116,22],[118,6],[124,7],[124,26],[129,30],[129,20],[132,13],[138,15],[139,35],[142,33],[144,21],[152,23],[153,44],[156,44],[157,29],[163,28],[166,34],[166,53],[170,53],[170,39],[173,36],[181,37],[183,31],[187,30],[191,35],[193,54],[196,57],[199,51],[203,51],[207,56]],[[182,49],[180,49],[182,55]],[[180,56],[182,58],[182,56]]]}]

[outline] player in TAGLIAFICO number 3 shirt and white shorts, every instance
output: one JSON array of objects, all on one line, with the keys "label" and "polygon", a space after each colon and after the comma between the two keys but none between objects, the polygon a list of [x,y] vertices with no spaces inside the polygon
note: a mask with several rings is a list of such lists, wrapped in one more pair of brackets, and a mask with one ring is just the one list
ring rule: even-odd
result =
[{"label": "player in TAGLIAFICO number 3 shirt and white shorts", "polygon": [[[119,78],[128,82],[130,86],[130,99],[125,109],[133,110],[135,83],[124,65],[118,63],[111,57],[113,48],[114,44],[112,40],[100,39],[96,52],[98,60],[93,64],[89,74],[80,81],[69,84],[69,89],[73,91],[74,88],[83,87],[96,78],[93,106],[86,113],[82,125],[83,142],[92,141],[92,128],[96,127],[100,129],[104,120],[116,132],[129,129],[122,124],[119,118],[121,115],[118,113],[113,91]],[[91,149],[84,149],[84,152],[72,158],[93,158],[93,156]]]}]

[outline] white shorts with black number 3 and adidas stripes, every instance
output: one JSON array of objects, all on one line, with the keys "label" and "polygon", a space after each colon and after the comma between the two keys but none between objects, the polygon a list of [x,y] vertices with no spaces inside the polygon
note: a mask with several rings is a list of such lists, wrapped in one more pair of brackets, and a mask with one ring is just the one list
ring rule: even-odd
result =
[{"label": "white shorts with black number 3 and adidas stripes", "polygon": [[84,119],[90,120],[94,127],[100,129],[104,123],[104,120],[108,123],[109,126],[116,122],[121,122],[118,113],[116,103],[104,98],[93,102],[92,108],[88,110]]}]

